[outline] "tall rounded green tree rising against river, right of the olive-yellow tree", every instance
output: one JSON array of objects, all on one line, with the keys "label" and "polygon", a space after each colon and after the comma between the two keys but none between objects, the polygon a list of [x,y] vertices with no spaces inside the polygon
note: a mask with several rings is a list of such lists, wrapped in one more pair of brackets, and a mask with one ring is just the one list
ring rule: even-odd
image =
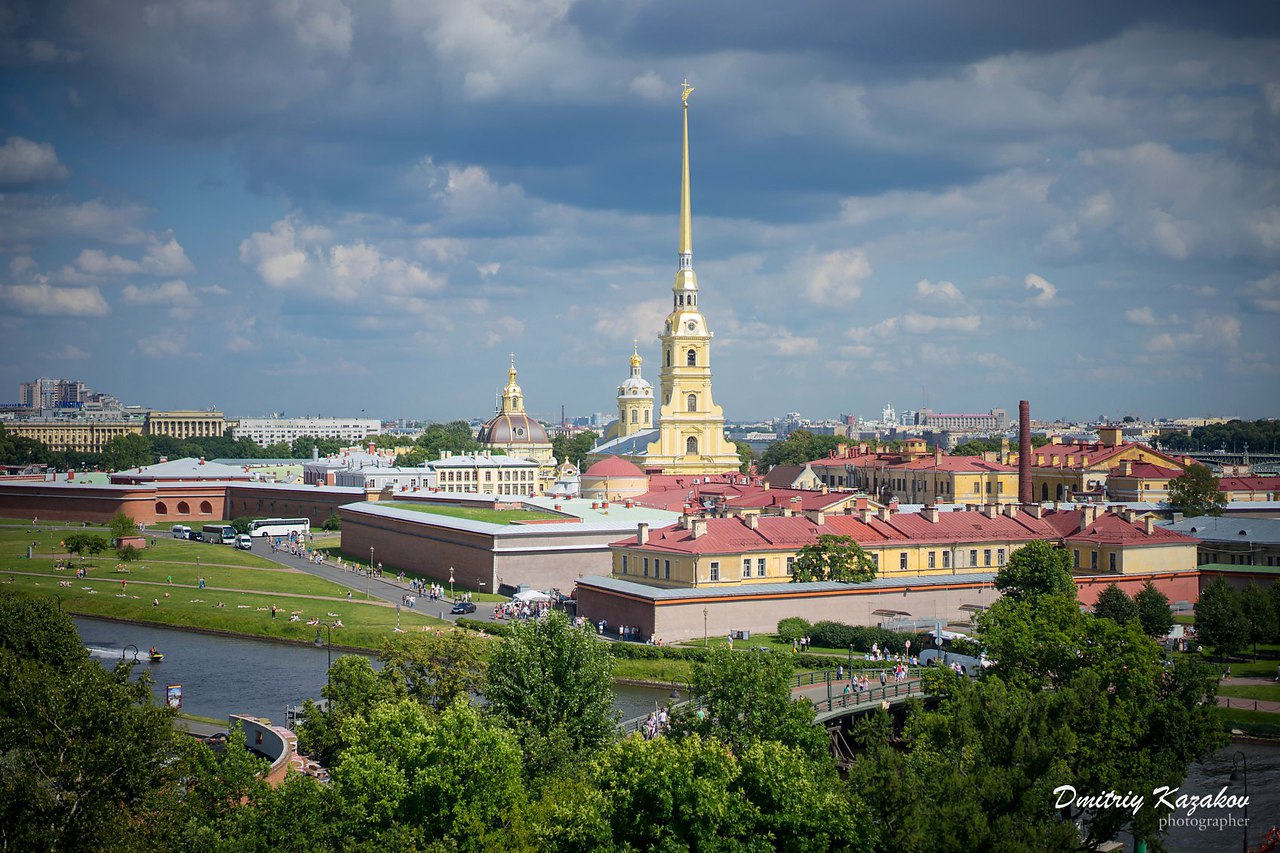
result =
[{"label": "tall rounded green tree rising against river, right of the olive-yellow tree", "polygon": [[512,726],[530,752],[535,774],[614,736],[613,656],[559,611],[511,626],[489,661],[483,692],[486,711]]}]

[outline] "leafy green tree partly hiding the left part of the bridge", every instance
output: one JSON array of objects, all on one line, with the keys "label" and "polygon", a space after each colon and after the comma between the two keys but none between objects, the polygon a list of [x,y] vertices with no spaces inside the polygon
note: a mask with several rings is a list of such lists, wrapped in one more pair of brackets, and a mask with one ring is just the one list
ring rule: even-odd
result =
[{"label": "leafy green tree partly hiding the left part of the bridge", "polygon": [[791,698],[791,661],[780,652],[712,649],[694,663],[691,689],[696,711],[672,722],[675,736],[692,734],[728,744],[735,753],[763,740],[795,747],[814,760],[827,756],[827,735],[813,722],[808,701]]}]

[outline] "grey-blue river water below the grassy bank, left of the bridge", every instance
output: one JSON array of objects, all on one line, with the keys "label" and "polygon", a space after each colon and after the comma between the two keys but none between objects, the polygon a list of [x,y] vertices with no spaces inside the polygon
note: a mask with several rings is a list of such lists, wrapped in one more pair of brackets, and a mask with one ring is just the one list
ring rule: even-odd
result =
[{"label": "grey-blue river water below the grassy bank, left of the bridge", "polygon": [[[285,708],[305,698],[320,698],[329,665],[329,649],[288,646],[234,637],[214,637],[192,631],[76,617],[76,628],[90,654],[104,666],[133,658],[136,646],[142,663],[134,669],[151,675],[151,690],[164,702],[165,688],[182,685],[182,710],[202,717],[225,720],[228,713],[247,713],[283,721]],[[164,661],[150,663],[146,652],[155,646]],[[334,651],[337,658],[346,652]],[[372,657],[372,656],[370,656]],[[666,703],[667,690],[657,688],[614,688],[614,707],[622,719],[640,716]]]}]

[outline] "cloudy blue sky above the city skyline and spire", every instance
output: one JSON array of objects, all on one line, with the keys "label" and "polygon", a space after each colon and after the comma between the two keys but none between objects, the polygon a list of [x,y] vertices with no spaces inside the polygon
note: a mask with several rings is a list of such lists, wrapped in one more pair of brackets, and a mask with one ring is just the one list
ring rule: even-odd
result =
[{"label": "cloudy blue sky above the city skyline and spire", "polygon": [[1272,3],[10,0],[0,401],[1276,416]]}]

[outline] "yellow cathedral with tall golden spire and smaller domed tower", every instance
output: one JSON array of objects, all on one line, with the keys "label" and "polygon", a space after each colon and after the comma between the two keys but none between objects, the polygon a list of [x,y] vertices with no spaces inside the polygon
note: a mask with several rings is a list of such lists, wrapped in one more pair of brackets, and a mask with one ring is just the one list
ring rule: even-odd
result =
[{"label": "yellow cathedral with tall golden spire and smaller domed tower", "polygon": [[[737,470],[737,447],[724,438],[724,412],[712,400],[712,330],[698,310],[692,216],[689,200],[689,93],[684,105],[680,183],[680,266],[672,306],[659,341],[660,393],[641,375],[641,357],[631,356],[631,377],[618,387],[618,420],[591,450],[593,460],[621,457],[643,470],[663,474],[723,474]],[[657,425],[653,410],[657,407]]]}]

